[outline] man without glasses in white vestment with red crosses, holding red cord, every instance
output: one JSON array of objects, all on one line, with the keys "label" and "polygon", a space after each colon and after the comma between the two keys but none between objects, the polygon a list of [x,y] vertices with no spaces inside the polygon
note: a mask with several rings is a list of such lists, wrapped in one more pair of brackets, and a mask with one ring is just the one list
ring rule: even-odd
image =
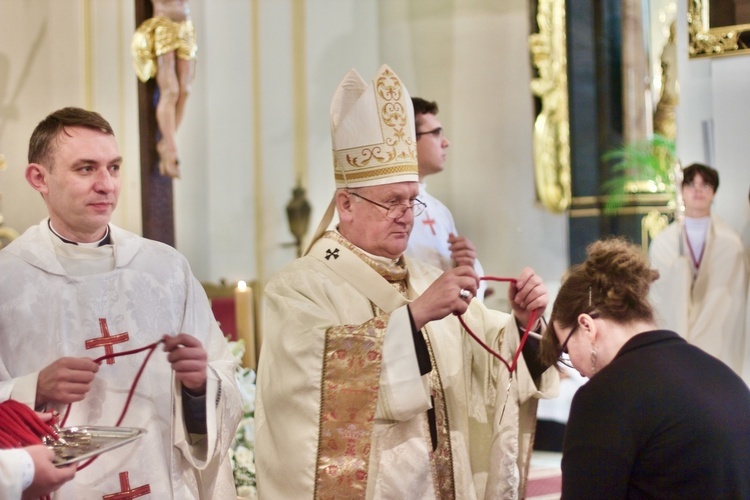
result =
[{"label": "man without glasses in white vestment with red crosses, holding red cord", "polygon": [[[99,114],[63,108],[29,142],[26,179],[49,217],[0,251],[0,400],[70,413],[65,426],[146,430],[56,498],[232,498],[242,407],[234,358],[187,260],[110,224],[120,155]],[[163,341],[146,353],[95,358]],[[114,495],[114,496],[112,496]],[[118,496],[119,495],[119,496]]]}]

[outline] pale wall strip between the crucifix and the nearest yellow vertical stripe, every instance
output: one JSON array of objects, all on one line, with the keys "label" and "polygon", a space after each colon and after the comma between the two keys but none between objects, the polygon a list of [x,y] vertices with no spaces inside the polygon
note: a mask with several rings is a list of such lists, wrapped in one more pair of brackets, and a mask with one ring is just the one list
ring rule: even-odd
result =
[{"label": "pale wall strip between the crucifix and the nearest yellow vertical stripe", "polygon": [[253,107],[248,2],[191,2],[198,59],[178,131],[177,248],[204,281],[255,277]]}]

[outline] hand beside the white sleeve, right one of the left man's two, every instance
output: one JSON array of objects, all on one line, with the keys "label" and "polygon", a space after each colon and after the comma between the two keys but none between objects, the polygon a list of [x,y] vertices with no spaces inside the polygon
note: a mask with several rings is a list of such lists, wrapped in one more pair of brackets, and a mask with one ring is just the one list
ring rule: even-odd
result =
[{"label": "hand beside the white sleeve, right one of the left man's two", "polygon": [[167,361],[172,365],[175,377],[182,382],[192,395],[206,393],[206,370],[208,353],[197,338],[187,333],[164,335],[164,351],[168,352]]}]

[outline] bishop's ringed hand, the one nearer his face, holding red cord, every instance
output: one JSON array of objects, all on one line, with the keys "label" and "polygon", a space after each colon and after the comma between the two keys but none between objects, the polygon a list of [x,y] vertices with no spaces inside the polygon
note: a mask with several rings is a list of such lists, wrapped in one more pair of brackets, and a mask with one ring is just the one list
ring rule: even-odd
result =
[{"label": "bishop's ringed hand, the one nearer his face, holding red cord", "polygon": [[449,314],[463,314],[476,295],[479,277],[469,266],[445,271],[422,295],[409,304],[417,329]]}]

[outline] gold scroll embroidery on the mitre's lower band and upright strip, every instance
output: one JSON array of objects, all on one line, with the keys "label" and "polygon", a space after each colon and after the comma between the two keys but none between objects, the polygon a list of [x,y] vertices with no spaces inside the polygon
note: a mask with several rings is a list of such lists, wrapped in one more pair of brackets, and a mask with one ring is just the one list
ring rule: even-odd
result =
[{"label": "gold scroll embroidery on the mitre's lower band and upright strip", "polygon": [[[417,146],[413,136],[408,92],[390,69],[373,81],[382,142],[333,152],[337,182],[377,180],[418,175]],[[369,98],[369,93],[364,94]]]}]

